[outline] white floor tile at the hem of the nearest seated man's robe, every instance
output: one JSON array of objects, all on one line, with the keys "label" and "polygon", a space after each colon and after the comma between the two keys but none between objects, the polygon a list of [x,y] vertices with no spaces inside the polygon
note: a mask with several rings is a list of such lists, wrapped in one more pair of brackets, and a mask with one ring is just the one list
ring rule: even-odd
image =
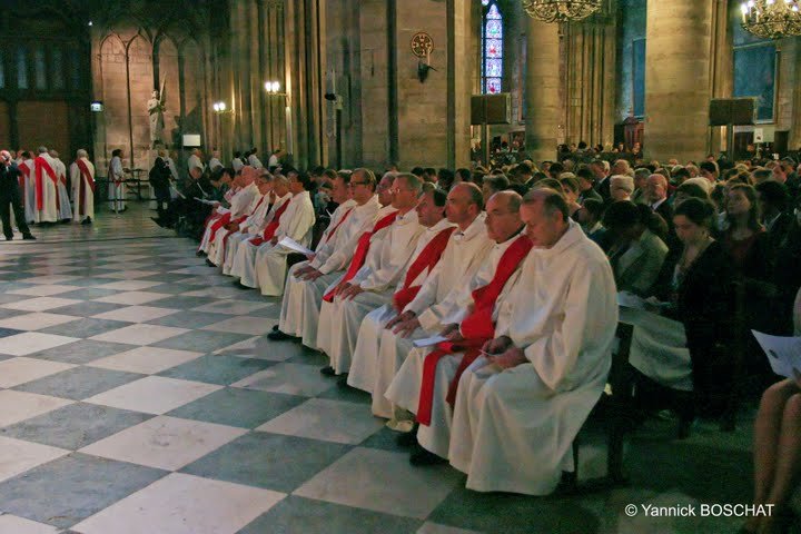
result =
[{"label": "white floor tile at the hem of the nearest seated man's robe", "polygon": [[356,447],[293,493],[424,520],[459,479],[461,475],[446,465],[411,469],[408,454]]}]

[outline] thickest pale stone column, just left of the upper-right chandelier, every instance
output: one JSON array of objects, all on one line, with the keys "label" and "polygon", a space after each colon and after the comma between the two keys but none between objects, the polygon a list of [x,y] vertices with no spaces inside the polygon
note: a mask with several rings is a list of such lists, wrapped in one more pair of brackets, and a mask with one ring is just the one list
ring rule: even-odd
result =
[{"label": "thickest pale stone column, just left of the upper-right chandelier", "polygon": [[709,151],[713,0],[649,0],[646,157],[679,161]]}]

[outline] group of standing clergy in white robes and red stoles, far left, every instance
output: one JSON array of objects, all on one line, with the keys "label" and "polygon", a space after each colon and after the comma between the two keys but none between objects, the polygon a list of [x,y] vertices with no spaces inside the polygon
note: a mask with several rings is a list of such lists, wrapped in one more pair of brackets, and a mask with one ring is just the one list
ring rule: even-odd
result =
[{"label": "group of standing clergy in white robes and red stoles, far left", "polygon": [[70,219],[91,222],[95,216],[95,165],[89,161],[86,150],[78,150],[69,169],[59,159],[59,154],[47,147],[39,147],[36,155],[19,150],[13,165],[19,170],[19,197],[26,222]]}]

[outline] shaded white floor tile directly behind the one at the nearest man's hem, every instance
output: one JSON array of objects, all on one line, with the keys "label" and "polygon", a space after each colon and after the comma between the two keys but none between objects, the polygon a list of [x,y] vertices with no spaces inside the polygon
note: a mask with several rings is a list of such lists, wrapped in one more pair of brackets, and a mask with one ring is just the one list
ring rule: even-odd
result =
[{"label": "shaded white floor tile directly behind the one at the nearest man's hem", "polygon": [[356,445],[382,426],[368,405],[312,398],[256,429]]}]

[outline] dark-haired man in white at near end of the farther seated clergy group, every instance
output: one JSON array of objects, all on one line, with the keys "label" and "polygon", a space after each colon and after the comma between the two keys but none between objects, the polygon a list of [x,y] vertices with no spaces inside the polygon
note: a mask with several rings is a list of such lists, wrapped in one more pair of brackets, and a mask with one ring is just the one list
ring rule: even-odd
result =
[{"label": "dark-haired man in white at near end of the farther seated clergy group", "polygon": [[306,174],[289,172],[289,190],[293,198],[281,217],[281,224],[275,235],[261,245],[256,253],[256,287],[265,297],[278,297],[284,294],[286,283],[287,256],[290,249],[278,246],[284,238],[289,238],[303,247],[312,245],[312,233],[315,224],[315,210],[309,191],[314,181]]}]

